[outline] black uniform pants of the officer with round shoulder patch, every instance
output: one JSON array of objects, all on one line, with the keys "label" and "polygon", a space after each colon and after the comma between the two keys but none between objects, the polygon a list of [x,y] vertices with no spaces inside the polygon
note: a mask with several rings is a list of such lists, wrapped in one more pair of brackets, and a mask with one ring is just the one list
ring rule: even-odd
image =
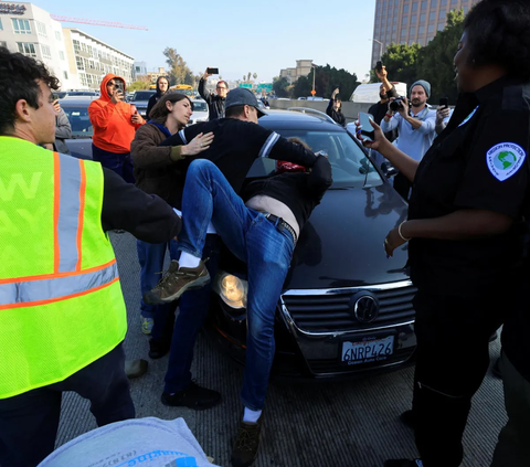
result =
[{"label": "black uniform pants of the officer with round shoulder patch", "polygon": [[414,309],[416,447],[425,467],[457,467],[471,397],[488,369],[488,340],[502,322],[506,297],[488,290],[475,298],[418,291]]}]

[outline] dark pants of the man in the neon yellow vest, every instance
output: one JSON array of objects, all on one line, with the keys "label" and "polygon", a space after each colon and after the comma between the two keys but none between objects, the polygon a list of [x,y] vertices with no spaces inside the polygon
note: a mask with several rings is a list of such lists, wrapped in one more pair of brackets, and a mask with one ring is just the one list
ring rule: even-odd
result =
[{"label": "dark pants of the man in the neon yellow vest", "polygon": [[[43,350],[45,351],[45,350]],[[0,465],[34,467],[55,447],[63,391],[91,401],[98,426],[135,417],[121,344],[55,384],[0,400]]]}]

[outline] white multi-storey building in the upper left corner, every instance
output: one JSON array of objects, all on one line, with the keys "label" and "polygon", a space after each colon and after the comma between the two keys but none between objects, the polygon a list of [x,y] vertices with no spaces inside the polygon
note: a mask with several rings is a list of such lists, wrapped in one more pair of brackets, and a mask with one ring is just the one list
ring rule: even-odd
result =
[{"label": "white multi-storey building in the upper left corner", "polygon": [[0,3],[0,46],[42,61],[62,91],[99,91],[107,73],[132,82],[134,57],[78,29],[62,28],[33,3]]}]

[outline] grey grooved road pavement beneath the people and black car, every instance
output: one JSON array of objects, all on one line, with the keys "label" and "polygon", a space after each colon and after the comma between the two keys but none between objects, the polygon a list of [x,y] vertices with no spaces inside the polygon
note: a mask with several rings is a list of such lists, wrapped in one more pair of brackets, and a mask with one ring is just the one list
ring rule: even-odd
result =
[{"label": "grey grooved road pavement beneath the people and black car", "polygon": [[[126,355],[149,360],[147,374],[131,380],[137,417],[183,417],[206,455],[220,466],[230,466],[232,439],[242,413],[239,400],[242,369],[201,335],[195,346],[193,375],[199,384],[221,392],[221,404],[201,412],[161,404],[168,358],[150,360],[147,357],[148,338],[139,326],[140,269],[136,240],[128,233],[110,233],[110,236],[127,304]],[[490,344],[491,362],[499,351],[497,339]],[[412,384],[412,368],[340,383],[273,381],[254,466],[382,467],[388,458],[415,457],[413,433],[399,420],[399,415],[410,408]],[[502,383],[489,372],[473,401],[464,436],[464,467],[489,466],[497,435],[505,423]],[[87,401],[66,394],[57,447],[95,427]]]}]

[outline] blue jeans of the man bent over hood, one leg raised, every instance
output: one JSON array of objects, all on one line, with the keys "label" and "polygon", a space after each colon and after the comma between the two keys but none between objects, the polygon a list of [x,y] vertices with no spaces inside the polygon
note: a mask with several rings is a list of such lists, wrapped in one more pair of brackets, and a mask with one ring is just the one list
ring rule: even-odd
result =
[{"label": "blue jeans of the man bent over hood, one leg raised", "polygon": [[251,410],[265,402],[274,359],[274,318],[294,250],[292,234],[246,208],[209,160],[193,161],[186,177],[179,250],[202,256],[210,221],[226,246],[247,265],[246,365],[241,399]]}]

